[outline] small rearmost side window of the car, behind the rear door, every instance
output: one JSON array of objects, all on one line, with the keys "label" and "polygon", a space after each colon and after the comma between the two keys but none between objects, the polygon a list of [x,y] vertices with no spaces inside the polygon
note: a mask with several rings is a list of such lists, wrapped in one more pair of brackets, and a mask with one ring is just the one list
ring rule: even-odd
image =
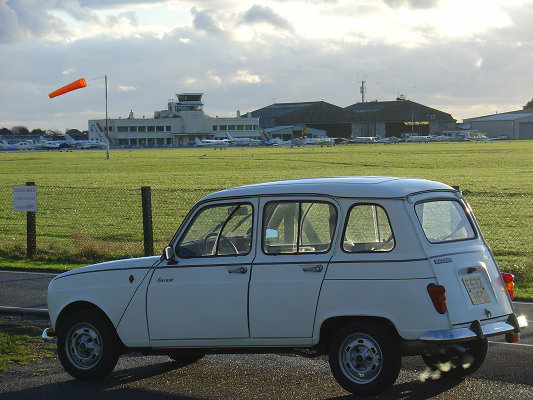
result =
[{"label": "small rearmost side window of the car, behind the rear door", "polygon": [[395,241],[389,218],[377,204],[356,204],[349,214],[342,248],[348,253],[386,252]]}]

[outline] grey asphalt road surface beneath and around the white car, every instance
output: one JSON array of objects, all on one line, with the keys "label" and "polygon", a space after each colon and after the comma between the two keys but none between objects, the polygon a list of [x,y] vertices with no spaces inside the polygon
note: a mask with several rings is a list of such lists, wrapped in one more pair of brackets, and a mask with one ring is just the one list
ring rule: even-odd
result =
[{"label": "grey asphalt road surface beneath and around the white car", "polygon": [[[43,310],[54,274],[0,272],[0,305]],[[18,300],[17,300],[18,299]],[[7,308],[6,308],[7,307]],[[396,384],[380,399],[533,399],[533,304],[515,303],[530,324],[519,343],[491,341],[483,366],[465,380],[427,376],[419,357],[402,360]],[[0,307],[0,312],[2,307]],[[3,323],[48,325],[42,312],[3,314]],[[40,315],[40,316],[39,316]],[[44,351],[47,345],[43,344]],[[50,352],[50,350],[48,350]],[[57,356],[10,366],[0,376],[0,399],[348,399],[326,358],[283,355],[216,355],[176,368],[166,356],[125,355],[113,373],[94,382],[64,372]]]}]

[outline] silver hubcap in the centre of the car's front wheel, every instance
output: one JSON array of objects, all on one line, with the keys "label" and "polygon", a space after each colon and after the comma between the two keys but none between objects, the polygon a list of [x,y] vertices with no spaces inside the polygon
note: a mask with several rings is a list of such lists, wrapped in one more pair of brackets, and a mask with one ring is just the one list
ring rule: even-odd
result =
[{"label": "silver hubcap in the centre of the car's front wheel", "polygon": [[80,322],[69,330],[65,346],[70,362],[79,369],[94,367],[102,356],[100,333],[88,322]]}]

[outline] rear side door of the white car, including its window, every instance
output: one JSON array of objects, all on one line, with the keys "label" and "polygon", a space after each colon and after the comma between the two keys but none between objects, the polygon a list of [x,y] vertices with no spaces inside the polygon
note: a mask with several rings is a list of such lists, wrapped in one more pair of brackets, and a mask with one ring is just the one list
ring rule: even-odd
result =
[{"label": "rear side door of the white car, including its window", "polygon": [[262,198],[250,280],[252,338],[309,338],[336,233],[328,198]]}]

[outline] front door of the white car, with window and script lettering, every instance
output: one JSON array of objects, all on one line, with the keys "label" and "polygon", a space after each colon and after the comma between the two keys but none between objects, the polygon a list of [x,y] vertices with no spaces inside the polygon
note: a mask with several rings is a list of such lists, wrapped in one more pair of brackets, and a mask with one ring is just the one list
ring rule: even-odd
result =
[{"label": "front door of the white car, with window and script lettering", "polygon": [[256,204],[198,208],[154,271],[147,293],[150,340],[248,338],[248,283]]}]

